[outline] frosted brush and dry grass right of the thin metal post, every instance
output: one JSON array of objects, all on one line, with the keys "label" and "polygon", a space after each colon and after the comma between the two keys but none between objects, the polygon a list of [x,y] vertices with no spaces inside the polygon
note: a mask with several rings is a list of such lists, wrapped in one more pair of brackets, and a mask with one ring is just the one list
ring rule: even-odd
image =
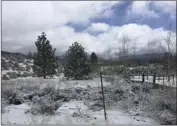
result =
[{"label": "frosted brush and dry grass right of the thin metal post", "polygon": [[[161,124],[176,124],[176,88],[154,89],[148,83],[129,83],[120,78],[109,81],[112,83],[110,99],[119,106],[128,110],[143,110],[142,115],[154,118]],[[123,91],[122,95],[113,93],[117,89]]]}]

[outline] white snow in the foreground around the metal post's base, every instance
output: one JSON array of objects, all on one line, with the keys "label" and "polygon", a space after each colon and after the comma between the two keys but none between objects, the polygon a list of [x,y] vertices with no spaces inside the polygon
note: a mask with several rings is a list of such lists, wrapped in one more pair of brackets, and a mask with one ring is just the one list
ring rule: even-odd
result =
[{"label": "white snow in the foreground around the metal post's base", "polygon": [[54,116],[25,114],[29,109],[28,104],[6,107],[2,124],[158,124],[147,117],[131,116],[120,108],[107,110],[105,122],[103,110],[91,111],[82,101],[63,104]]}]

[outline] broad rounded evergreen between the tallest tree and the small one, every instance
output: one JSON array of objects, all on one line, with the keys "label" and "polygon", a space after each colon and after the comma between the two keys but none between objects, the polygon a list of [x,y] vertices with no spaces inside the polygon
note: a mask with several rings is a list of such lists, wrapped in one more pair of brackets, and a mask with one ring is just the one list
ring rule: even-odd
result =
[{"label": "broad rounded evergreen between the tallest tree and the small one", "polygon": [[87,53],[78,42],[69,46],[65,59],[64,74],[67,78],[82,79],[84,75],[88,75],[90,72]]}]

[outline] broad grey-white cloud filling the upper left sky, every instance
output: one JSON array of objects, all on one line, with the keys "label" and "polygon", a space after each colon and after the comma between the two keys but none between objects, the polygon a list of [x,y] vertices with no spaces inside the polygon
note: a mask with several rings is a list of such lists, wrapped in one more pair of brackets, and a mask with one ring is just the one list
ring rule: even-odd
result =
[{"label": "broad grey-white cloud filling the upper left sky", "polygon": [[3,1],[3,30],[14,28],[23,32],[27,28],[28,31],[48,29],[68,22],[87,23],[91,18],[110,10],[117,3],[107,1]]}]

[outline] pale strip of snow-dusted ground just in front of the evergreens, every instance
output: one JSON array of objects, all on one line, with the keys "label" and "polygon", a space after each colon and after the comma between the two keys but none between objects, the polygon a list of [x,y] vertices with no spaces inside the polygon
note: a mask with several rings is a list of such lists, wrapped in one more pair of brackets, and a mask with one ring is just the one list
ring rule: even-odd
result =
[{"label": "pale strip of snow-dusted ground just in front of the evergreens", "polygon": [[[63,80],[62,80],[63,79]],[[13,82],[12,82],[13,81]],[[55,86],[59,89],[68,89],[68,88],[88,88],[90,87],[99,87],[101,85],[100,78],[94,78],[93,80],[65,80],[64,78],[56,79],[43,79],[37,77],[21,77],[18,79],[3,80],[5,83],[14,83],[17,85],[40,85],[41,88],[48,85]],[[104,82],[104,86],[108,86],[110,82]]]}]

